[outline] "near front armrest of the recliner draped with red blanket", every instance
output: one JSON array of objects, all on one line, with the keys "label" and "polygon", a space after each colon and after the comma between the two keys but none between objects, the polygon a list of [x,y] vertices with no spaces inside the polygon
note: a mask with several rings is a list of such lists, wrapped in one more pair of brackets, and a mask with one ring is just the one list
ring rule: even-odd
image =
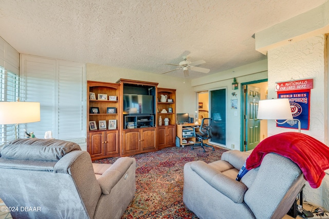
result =
[{"label": "near front armrest of the recliner draped with red blanket", "polygon": [[204,161],[195,161],[191,169],[203,178],[210,186],[230,198],[234,203],[242,203],[247,187],[239,181],[232,179],[220,171],[209,166]]}]

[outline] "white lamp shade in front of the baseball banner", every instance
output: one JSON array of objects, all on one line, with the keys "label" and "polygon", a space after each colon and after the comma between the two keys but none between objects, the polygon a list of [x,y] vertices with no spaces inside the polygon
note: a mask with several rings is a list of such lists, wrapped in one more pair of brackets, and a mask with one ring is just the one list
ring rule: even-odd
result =
[{"label": "white lamp shade in front of the baseball banner", "polygon": [[258,103],[257,119],[293,119],[289,99],[260,100]]}]

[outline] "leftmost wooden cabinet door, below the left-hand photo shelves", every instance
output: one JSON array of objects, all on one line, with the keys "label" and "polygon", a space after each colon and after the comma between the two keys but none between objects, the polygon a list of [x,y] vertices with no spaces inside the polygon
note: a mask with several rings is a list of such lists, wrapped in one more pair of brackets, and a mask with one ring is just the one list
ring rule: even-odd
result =
[{"label": "leftmost wooden cabinet door, below the left-hand photo shelves", "polygon": [[103,132],[90,132],[88,136],[88,152],[90,157],[102,156],[104,154],[103,143],[104,135]]}]

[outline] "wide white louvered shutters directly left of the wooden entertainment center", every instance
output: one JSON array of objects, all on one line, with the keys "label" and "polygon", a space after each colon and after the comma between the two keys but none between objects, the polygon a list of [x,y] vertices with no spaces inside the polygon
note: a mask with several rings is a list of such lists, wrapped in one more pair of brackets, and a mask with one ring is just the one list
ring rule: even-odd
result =
[{"label": "wide white louvered shutters directly left of the wooden entertainment center", "polygon": [[86,137],[86,80],[83,63],[21,56],[25,101],[40,102],[41,121],[27,123],[27,132],[44,138]]}]

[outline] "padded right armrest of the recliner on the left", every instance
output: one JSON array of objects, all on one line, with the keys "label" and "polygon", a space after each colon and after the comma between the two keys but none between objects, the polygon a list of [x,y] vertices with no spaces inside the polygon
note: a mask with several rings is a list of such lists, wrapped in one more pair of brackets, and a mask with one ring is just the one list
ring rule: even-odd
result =
[{"label": "padded right armrest of the recliner on the left", "polygon": [[97,179],[103,194],[108,195],[122,177],[130,177],[125,173],[133,165],[134,160],[131,157],[120,157]]}]

